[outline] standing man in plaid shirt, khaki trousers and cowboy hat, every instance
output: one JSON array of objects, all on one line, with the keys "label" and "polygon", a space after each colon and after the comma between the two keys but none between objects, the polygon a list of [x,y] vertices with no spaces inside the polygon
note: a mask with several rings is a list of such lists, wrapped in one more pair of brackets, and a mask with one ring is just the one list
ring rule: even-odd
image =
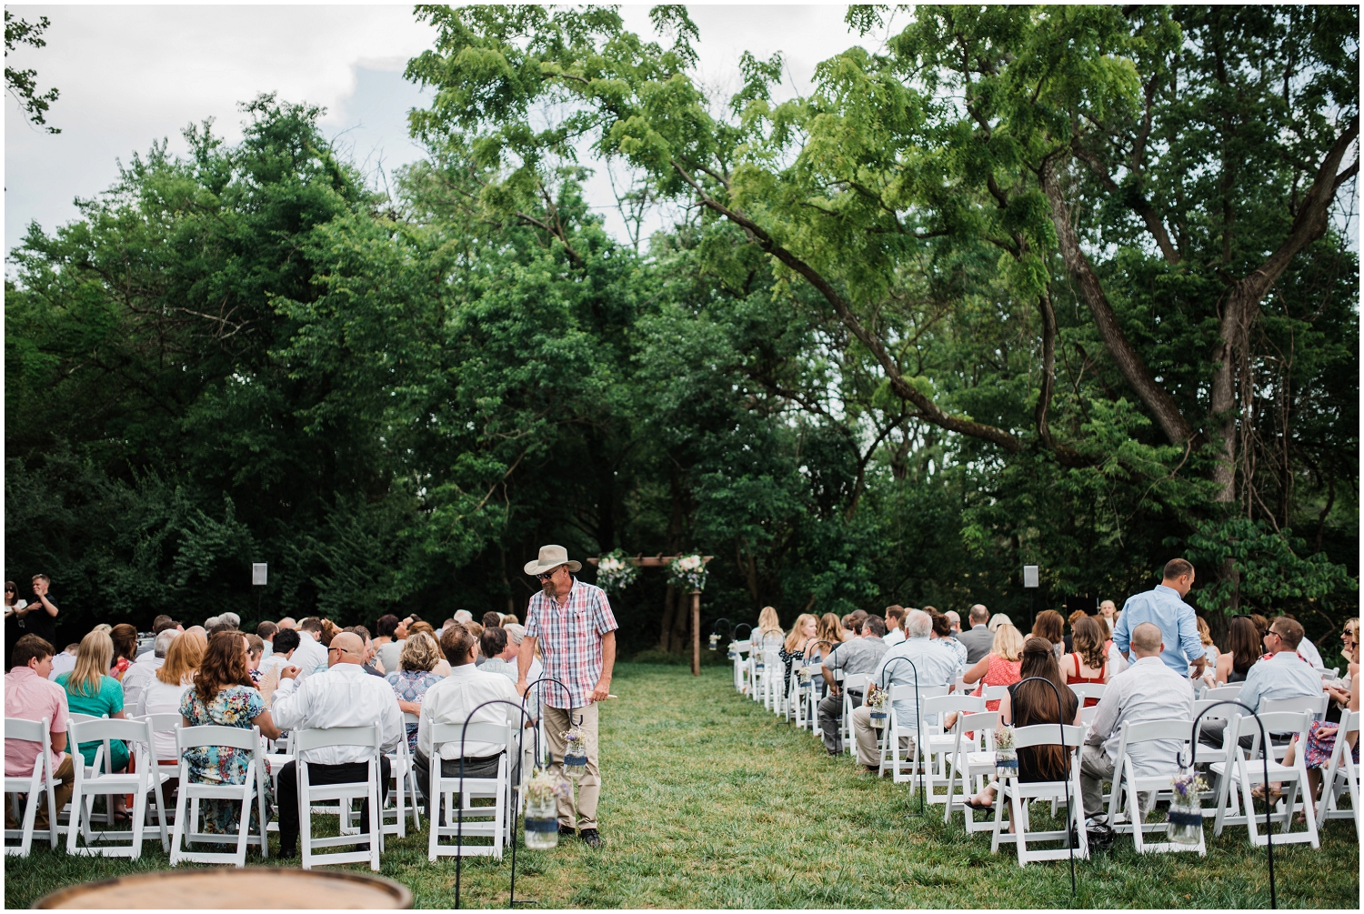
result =
[{"label": "standing man in plaid shirt, khaki trousers and cowboy hat", "polygon": [[578,820],[573,805],[559,798],[559,834],[578,836],[592,847],[602,846],[597,834],[596,805],[602,794],[597,769],[597,701],[611,690],[611,667],[615,666],[615,617],[606,591],[573,577],[581,569],[569,561],[562,546],[546,546],[540,558],[527,562],[525,573],[540,580],[542,592],[527,607],[525,637],[517,655],[517,692],[525,694],[527,674],[539,643],[544,658],[544,677],[558,679],[536,686],[544,713],[544,731],[550,742],[550,768],[563,772],[565,733],[577,723],[587,745],[587,773],[578,780]]}]

